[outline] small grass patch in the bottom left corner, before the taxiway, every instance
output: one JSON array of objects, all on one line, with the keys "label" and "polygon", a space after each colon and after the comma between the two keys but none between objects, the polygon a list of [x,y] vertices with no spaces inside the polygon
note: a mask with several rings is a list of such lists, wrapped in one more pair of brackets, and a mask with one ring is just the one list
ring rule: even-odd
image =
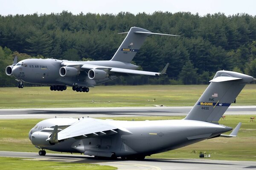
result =
[{"label": "small grass patch in the bottom left corner, before the taxiway", "polygon": [[33,161],[0,157],[1,170],[116,170],[116,167],[74,162]]}]

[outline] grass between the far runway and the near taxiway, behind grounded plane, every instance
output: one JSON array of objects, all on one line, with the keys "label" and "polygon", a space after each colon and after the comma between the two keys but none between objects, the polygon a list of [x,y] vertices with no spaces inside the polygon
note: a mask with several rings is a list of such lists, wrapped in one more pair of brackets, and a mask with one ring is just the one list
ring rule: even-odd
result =
[{"label": "grass between the far runway and the near taxiway, behind grounded plane", "polygon": [[[256,115],[250,115],[256,116]],[[153,158],[198,159],[199,153],[211,154],[210,159],[256,161],[256,122],[250,116],[226,116],[219,121],[230,127],[242,122],[238,138],[214,138],[198,142],[177,150],[154,154]],[[111,118],[116,120],[160,120],[182,119],[182,116]],[[0,150],[38,152],[28,139],[29,130],[41,119],[0,120]],[[230,132],[229,132],[230,133]],[[228,133],[228,134],[229,134]],[[48,151],[48,153],[55,153]]]}]

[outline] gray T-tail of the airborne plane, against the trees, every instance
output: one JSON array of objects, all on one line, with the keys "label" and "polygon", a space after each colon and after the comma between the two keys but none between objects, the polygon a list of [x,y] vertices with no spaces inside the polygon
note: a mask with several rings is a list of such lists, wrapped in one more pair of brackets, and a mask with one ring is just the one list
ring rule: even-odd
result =
[{"label": "gray T-tail of the airborne plane, against the trees", "polygon": [[171,34],[152,33],[146,29],[138,27],[131,27],[129,32],[122,32],[119,34],[127,34],[127,36],[125,37],[125,40],[123,40],[122,44],[120,45],[111,60],[120,62],[131,62],[131,60],[140,50],[140,47],[141,45],[143,45],[145,39],[152,34],[178,36]]}]

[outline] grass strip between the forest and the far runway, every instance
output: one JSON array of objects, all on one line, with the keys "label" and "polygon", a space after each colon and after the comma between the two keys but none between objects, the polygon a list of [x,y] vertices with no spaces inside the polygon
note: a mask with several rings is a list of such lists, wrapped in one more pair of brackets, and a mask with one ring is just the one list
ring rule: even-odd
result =
[{"label": "grass strip between the forest and the far runway", "polygon": [[[0,88],[0,108],[192,106],[206,88],[207,85],[96,86],[89,93],[72,91],[70,87],[62,92],[50,91],[49,87]],[[236,101],[232,105],[256,105],[256,84],[246,85]]]}]

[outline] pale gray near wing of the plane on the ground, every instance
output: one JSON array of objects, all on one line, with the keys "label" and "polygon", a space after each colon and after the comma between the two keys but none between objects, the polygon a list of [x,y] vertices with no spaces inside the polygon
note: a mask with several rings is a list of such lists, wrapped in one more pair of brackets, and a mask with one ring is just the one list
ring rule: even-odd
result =
[{"label": "pale gray near wing of the plane on the ground", "polygon": [[111,125],[110,121],[107,120],[84,118],[79,122],[71,125],[70,127],[60,131],[58,133],[58,140],[68,138],[83,139],[102,135],[110,135],[113,133],[118,133],[118,130],[131,133],[125,128]]}]

